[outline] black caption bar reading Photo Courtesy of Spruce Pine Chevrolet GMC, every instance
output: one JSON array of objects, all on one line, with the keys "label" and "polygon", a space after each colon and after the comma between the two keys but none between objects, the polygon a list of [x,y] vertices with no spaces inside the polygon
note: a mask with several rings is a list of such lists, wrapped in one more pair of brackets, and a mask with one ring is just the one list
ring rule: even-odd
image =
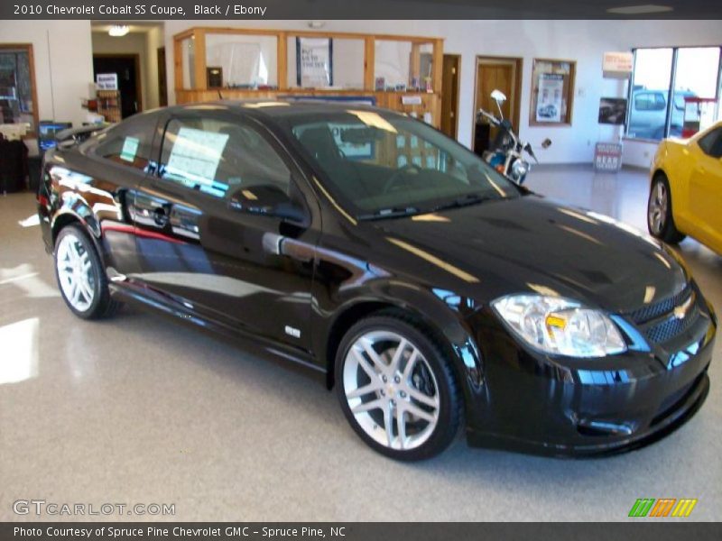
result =
[{"label": "black caption bar reading Photo Courtesy of Spruce Pine Chevrolet GMC", "polygon": [[260,523],[260,522],[3,522],[5,541],[93,541],[147,539],[157,541],[680,541],[722,538],[720,523],[649,521],[645,518],[616,523]]}]

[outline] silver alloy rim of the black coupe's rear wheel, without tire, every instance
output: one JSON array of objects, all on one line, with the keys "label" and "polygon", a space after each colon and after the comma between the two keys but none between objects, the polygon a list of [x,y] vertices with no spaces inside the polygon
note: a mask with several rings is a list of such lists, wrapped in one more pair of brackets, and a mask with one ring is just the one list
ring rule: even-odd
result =
[{"label": "silver alloy rim of the black coupe's rear wheel, without tire", "polygon": [[55,257],[63,295],[71,307],[85,312],[96,293],[93,261],[88,251],[76,235],[69,233],[60,239]]}]

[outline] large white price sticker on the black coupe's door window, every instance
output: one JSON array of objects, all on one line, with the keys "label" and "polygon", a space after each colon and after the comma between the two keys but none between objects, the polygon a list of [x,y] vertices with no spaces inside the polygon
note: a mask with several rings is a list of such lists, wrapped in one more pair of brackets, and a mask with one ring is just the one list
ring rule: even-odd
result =
[{"label": "large white price sticker on the black coupe's door window", "polygon": [[165,175],[188,188],[213,188],[227,133],[180,128],[175,136]]}]

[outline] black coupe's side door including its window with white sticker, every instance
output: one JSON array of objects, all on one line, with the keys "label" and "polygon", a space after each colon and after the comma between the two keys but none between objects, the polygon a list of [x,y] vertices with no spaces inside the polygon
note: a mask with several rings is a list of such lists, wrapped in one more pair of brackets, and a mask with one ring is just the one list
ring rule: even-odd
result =
[{"label": "black coupe's side door including its window with white sticker", "polygon": [[190,313],[307,349],[318,206],[263,126],[171,116],[136,199],[143,281]]}]

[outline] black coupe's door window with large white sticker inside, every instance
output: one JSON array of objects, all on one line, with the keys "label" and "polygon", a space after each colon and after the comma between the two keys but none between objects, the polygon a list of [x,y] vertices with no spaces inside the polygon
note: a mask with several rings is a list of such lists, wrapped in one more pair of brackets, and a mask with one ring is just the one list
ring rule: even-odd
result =
[{"label": "black coupe's door window with large white sticker inside", "polygon": [[291,171],[259,133],[216,118],[176,118],[166,125],[159,176],[225,198],[259,186],[288,194],[291,184]]}]

